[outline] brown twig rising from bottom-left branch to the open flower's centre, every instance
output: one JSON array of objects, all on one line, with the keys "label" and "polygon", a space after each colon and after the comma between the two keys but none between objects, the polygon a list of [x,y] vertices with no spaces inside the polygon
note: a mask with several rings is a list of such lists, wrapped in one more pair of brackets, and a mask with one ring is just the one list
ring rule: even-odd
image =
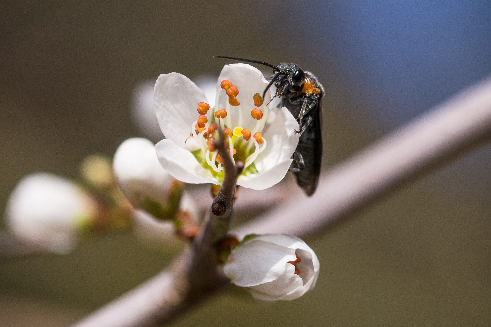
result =
[{"label": "brown twig rising from bottom-left branch to the open flower's centre", "polygon": [[217,265],[216,246],[227,235],[237,177],[244,163],[234,165],[223,142],[216,143],[223,159],[223,182],[191,245],[170,268],[74,326],[150,327],[169,323],[183,310],[230,283]]}]

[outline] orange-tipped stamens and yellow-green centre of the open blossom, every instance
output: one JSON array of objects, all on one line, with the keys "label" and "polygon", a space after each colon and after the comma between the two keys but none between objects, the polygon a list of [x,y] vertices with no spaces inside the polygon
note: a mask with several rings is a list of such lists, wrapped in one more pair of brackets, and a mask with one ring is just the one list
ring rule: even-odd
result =
[{"label": "orange-tipped stamens and yellow-green centre of the open blossom", "polygon": [[[225,148],[232,162],[234,164],[236,161],[244,162],[245,167],[242,174],[249,175],[257,173],[254,160],[256,160],[259,153],[264,151],[267,145],[261,132],[268,119],[269,111],[259,93],[256,93],[251,97],[251,102],[245,104],[246,107],[254,107],[250,112],[250,117],[243,117],[241,103],[237,100],[239,89],[226,79],[221,81],[220,86],[225,90],[228,97],[226,107],[219,110],[216,107],[213,108],[214,114],[211,116],[210,121],[208,121],[205,115],[210,110],[210,105],[205,102],[199,102],[197,110],[199,116],[191,125],[190,137],[193,137],[201,148],[192,152],[196,159],[204,168],[209,169],[213,176],[221,182],[223,179],[223,167],[221,166],[223,160],[214,146],[214,141],[219,137],[218,129],[222,131]],[[234,119],[232,119],[232,116]],[[249,123],[256,121],[252,130],[242,127],[247,121]],[[254,123],[250,126],[252,125]]]}]

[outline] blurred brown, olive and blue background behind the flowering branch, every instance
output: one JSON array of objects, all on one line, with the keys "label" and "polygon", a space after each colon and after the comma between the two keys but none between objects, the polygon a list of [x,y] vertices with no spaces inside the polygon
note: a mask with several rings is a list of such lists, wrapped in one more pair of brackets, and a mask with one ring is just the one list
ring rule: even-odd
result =
[{"label": "blurred brown, olive and blue background behind the flowering branch", "polygon": [[[488,0],[0,1],[0,210],[18,180],[112,157],[137,83],[295,62],[326,89],[329,166],[491,73]],[[263,67],[261,67],[264,70]],[[218,296],[173,326],[491,326],[491,147],[306,240],[293,302]],[[301,222],[299,222],[301,223]],[[130,232],[0,260],[0,326],[67,326],[159,272]]]}]

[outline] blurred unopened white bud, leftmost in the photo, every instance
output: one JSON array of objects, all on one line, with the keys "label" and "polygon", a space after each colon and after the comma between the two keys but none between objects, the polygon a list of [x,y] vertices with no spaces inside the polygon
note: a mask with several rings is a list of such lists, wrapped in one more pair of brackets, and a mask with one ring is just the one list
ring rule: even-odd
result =
[{"label": "blurred unopened white bud, leftmost in the photo", "polygon": [[95,201],[68,179],[35,173],[25,176],[10,194],[7,226],[18,237],[59,254],[73,251],[78,231],[90,224]]}]

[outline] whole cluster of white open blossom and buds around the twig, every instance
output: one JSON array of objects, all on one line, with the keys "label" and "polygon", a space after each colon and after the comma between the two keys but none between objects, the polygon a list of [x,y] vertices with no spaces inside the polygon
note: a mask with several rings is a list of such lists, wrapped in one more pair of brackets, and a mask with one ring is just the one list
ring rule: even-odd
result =
[{"label": "whole cluster of white open blossom and buds around the twig", "polygon": [[[128,139],[117,149],[112,164],[115,180],[132,205],[128,210],[140,237],[168,244],[178,239],[176,232],[194,236],[192,232],[186,236],[185,227],[197,228],[198,212],[182,182],[221,184],[222,159],[214,143],[219,130],[232,162],[245,163],[238,185],[266,189],[285,176],[299,141],[295,133],[299,125],[285,107],[270,108],[270,91],[261,97],[267,85],[262,73],[250,65],[226,65],[212,102],[184,75],[159,76],[154,106],[165,139],[156,146],[144,138]],[[140,88],[147,99],[148,86]],[[144,121],[151,119],[146,116],[141,124]],[[95,175],[87,174],[96,184],[119,192],[110,167],[106,173],[97,167],[88,165],[87,172]],[[124,200],[127,208],[128,201]],[[82,226],[97,219],[98,210],[97,201],[75,183],[38,173],[19,182],[5,213],[18,236],[52,252],[67,253],[75,247]],[[319,260],[295,236],[249,235],[231,250],[223,271],[255,299],[293,300],[315,286]]]}]

